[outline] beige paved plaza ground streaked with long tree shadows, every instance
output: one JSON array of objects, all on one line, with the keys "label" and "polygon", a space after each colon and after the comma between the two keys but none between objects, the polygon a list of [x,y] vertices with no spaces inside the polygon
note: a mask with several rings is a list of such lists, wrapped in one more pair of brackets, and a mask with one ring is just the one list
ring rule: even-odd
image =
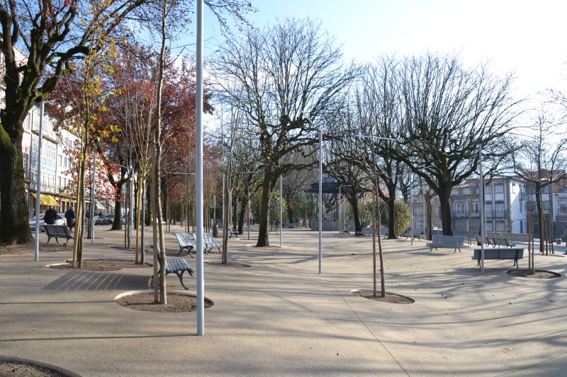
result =
[{"label": "beige paved plaza ground streaked with long tree shadows", "polygon": [[[108,227],[101,227],[106,229]],[[147,228],[150,231],[150,228]],[[371,238],[284,230],[283,248],[254,248],[255,234],[230,238],[229,260],[205,264],[205,336],[196,312],[151,313],[114,297],[147,289],[152,269],[47,269],[69,251],[0,255],[0,356],[32,359],[80,376],[564,376],[567,258],[536,255],[557,279],[506,274],[512,261],[472,249],[429,251],[424,241],[383,240],[386,290],[412,304],[372,301]],[[42,236],[43,237],[43,236]],[[166,233],[168,255],[176,240]],[[111,248],[123,233],[97,231],[86,258],[133,260]],[[527,252],[525,253],[527,255]],[[186,257],[195,267],[195,259]],[[147,253],[147,260],[151,260]],[[218,253],[207,261],[220,261]],[[527,260],[520,261],[520,268]],[[378,274],[379,277],[379,274]],[[195,279],[186,278],[195,293]],[[378,281],[379,282],[379,281]],[[169,291],[185,291],[173,274]],[[379,286],[379,285],[378,285]]]}]

